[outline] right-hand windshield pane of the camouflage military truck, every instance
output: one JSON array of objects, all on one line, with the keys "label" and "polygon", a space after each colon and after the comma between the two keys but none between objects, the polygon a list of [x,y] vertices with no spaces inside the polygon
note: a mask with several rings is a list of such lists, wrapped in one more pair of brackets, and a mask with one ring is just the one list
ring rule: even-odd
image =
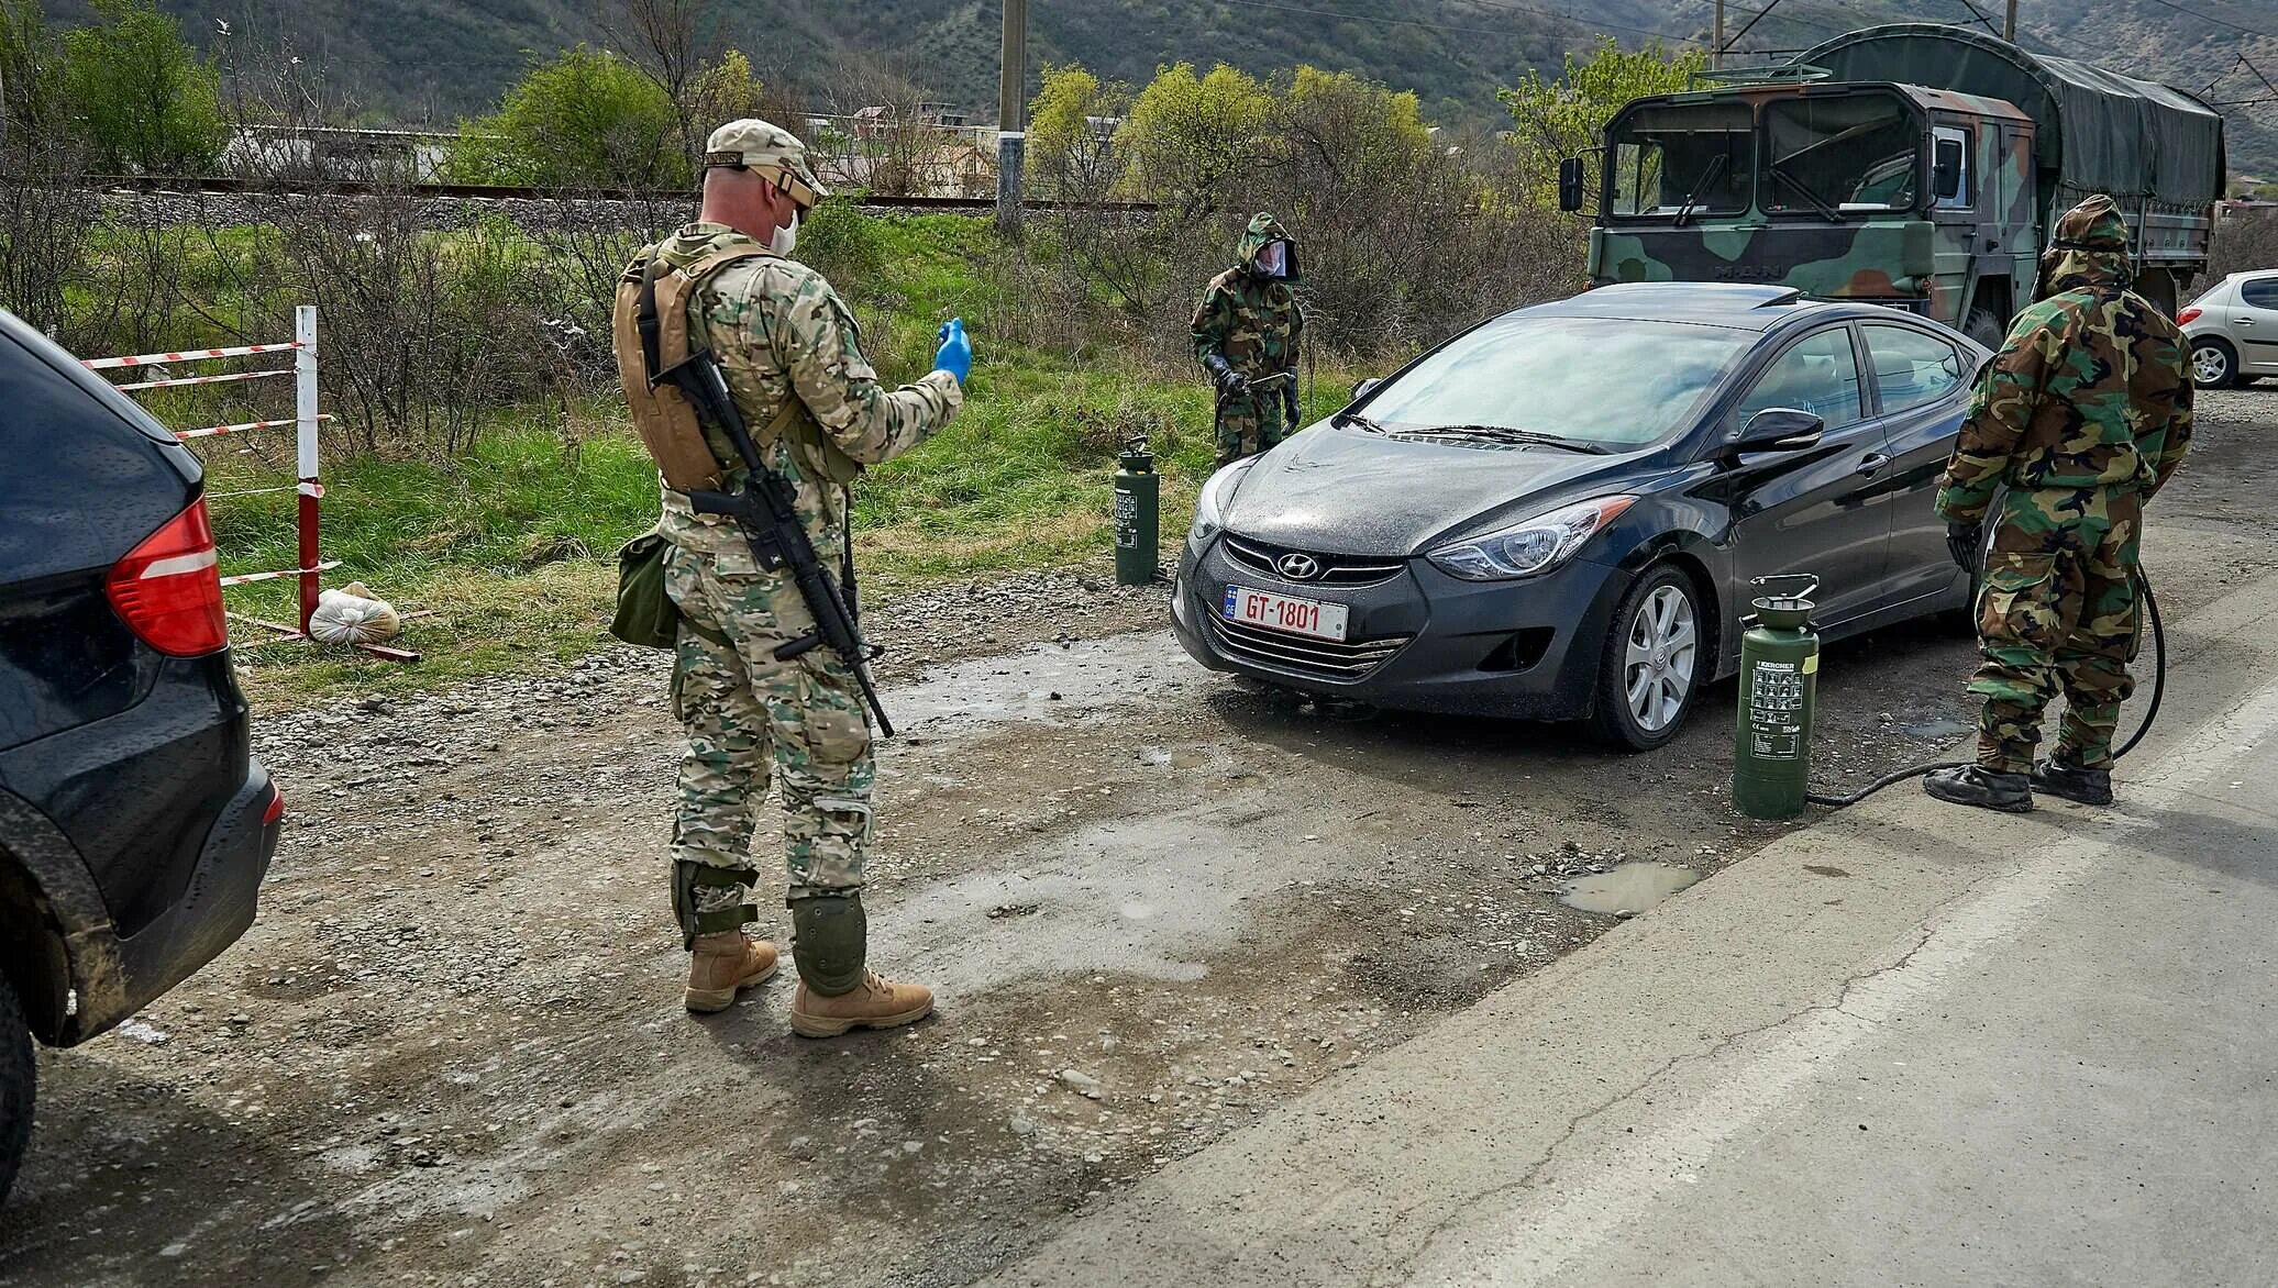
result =
[{"label": "right-hand windshield pane of the camouflage military truck", "polygon": [[1788,98],[1763,112],[1763,209],[1914,209],[1923,127],[1895,98]]}]

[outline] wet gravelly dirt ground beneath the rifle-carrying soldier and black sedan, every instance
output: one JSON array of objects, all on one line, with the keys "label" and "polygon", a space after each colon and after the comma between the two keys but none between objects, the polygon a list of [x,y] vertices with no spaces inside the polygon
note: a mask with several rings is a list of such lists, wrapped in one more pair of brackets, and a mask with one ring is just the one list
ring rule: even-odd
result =
[{"label": "wet gravelly dirt ground beneath the rifle-carrying soldier and black sedan", "polygon": [[[2278,564],[2278,394],[2205,419],[2148,542],[2171,617]],[[1339,721],[1107,580],[877,614],[872,956],[941,992],[895,1033],[793,1038],[788,969],[681,1010],[661,655],[262,721],[292,806],[262,919],[41,1056],[0,1286],[964,1283],[1620,922],[1572,881],[1779,833],[1727,803],[1729,683],[1642,758]],[[1834,646],[1818,776],[1941,751],[1968,662],[1936,624]]]}]

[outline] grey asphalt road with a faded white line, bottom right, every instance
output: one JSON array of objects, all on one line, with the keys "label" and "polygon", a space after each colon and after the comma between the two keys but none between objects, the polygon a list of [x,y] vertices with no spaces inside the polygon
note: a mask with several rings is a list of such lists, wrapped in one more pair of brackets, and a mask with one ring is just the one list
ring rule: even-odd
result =
[{"label": "grey asphalt road with a faded white line, bottom right", "polygon": [[2173,644],[2116,808],[1886,792],[991,1283],[2278,1281],[2278,576]]}]

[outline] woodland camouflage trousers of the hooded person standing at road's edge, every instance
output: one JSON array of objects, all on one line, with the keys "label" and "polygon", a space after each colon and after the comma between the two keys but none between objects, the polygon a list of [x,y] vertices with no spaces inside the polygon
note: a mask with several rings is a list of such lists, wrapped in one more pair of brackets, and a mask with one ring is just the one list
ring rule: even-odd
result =
[{"label": "woodland camouflage trousers of the hooded person standing at road's edge", "polygon": [[2112,767],[2121,703],[2134,692],[2137,492],[2103,487],[2011,492],[1986,555],[1977,598],[1984,662],[1970,692],[1984,696],[1977,762],[2002,774],[2032,769],[2041,710],[2064,692],[2055,758]]}]

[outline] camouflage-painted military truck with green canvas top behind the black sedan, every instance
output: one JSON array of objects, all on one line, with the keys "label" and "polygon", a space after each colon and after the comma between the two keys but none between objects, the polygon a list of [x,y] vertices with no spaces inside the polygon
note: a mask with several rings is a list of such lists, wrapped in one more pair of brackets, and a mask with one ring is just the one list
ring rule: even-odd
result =
[{"label": "camouflage-painted military truck with green canvas top behind the black sedan", "polygon": [[[2137,289],[2207,264],[2223,118],[2196,96],[1998,36],[1893,23],[1704,73],[1606,125],[1590,280],[1763,282],[1934,316],[1998,348],[2057,216],[2128,214]],[[1560,168],[1583,209],[1585,166]]]}]

